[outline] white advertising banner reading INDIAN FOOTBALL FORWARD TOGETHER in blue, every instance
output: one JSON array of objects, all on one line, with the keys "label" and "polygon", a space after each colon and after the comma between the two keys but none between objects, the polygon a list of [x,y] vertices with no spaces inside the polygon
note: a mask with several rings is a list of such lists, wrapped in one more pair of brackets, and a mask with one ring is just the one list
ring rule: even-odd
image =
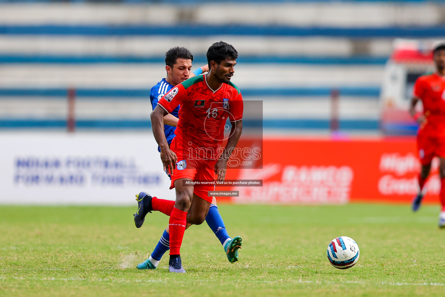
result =
[{"label": "white advertising banner reading INDIAN FOOTBALL FORWARD TOGETHER in blue", "polygon": [[174,199],[151,133],[0,132],[0,203],[136,205]]}]

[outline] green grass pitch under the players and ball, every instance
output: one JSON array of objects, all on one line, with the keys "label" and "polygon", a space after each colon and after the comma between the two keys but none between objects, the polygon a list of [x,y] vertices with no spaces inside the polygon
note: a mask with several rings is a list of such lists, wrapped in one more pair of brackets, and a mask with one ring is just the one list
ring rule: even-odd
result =
[{"label": "green grass pitch under the players and ball", "polygon": [[[0,206],[0,296],[444,296],[439,207],[220,205],[240,260],[227,261],[206,223],[186,231],[186,274],[137,270],[167,217],[134,207]],[[360,247],[351,269],[329,264],[336,236]],[[333,295],[336,294],[336,295]]]}]

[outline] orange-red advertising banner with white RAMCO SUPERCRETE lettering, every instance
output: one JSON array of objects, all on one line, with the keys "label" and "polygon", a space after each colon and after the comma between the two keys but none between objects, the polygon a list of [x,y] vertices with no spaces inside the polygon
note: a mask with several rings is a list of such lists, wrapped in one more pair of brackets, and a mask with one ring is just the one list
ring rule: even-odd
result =
[{"label": "orange-red advertising banner with white RAMCO SUPERCRETE lettering", "polygon": [[[363,140],[264,139],[262,169],[231,169],[226,179],[262,179],[263,187],[232,187],[234,203],[409,203],[417,193],[415,138]],[[425,202],[438,202],[433,160]],[[227,188],[226,188],[227,190]]]}]

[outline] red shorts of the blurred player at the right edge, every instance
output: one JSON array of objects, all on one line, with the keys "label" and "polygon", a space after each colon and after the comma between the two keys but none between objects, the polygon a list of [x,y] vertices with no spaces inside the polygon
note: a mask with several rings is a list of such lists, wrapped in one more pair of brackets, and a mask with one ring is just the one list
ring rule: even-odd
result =
[{"label": "red shorts of the blurred player at the right edge", "polygon": [[445,158],[445,138],[419,133],[417,135],[417,148],[422,165],[431,163],[434,157]]}]

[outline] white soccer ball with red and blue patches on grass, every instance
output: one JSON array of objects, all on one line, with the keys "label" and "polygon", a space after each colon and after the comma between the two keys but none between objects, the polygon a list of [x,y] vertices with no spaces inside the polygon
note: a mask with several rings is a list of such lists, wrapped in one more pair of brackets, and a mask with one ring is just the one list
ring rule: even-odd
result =
[{"label": "white soccer ball with red and blue patches on grass", "polygon": [[334,238],[328,245],[328,260],[335,268],[348,269],[357,263],[359,256],[359,246],[351,237]]}]

